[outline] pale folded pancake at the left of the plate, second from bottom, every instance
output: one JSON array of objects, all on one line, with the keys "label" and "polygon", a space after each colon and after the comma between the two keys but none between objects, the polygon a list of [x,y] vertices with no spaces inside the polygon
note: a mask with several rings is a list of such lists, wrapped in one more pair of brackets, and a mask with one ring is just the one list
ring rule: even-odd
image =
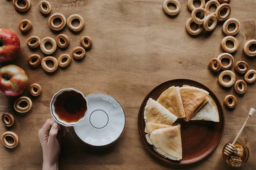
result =
[{"label": "pale folded pancake at the left of the plate, second from bottom", "polygon": [[148,122],[172,125],[177,120],[177,116],[168,111],[160,103],[149,98],[144,111],[144,119],[146,125]]}]

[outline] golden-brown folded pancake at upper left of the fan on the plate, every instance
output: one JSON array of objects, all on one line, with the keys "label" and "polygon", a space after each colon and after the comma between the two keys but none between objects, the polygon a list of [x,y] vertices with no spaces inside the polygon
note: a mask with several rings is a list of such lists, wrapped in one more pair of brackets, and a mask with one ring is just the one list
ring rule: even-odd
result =
[{"label": "golden-brown folded pancake at upper left of the fan on the plate", "polygon": [[164,91],[157,99],[168,111],[173,113],[177,118],[184,118],[185,112],[180,97],[179,87],[172,86]]}]

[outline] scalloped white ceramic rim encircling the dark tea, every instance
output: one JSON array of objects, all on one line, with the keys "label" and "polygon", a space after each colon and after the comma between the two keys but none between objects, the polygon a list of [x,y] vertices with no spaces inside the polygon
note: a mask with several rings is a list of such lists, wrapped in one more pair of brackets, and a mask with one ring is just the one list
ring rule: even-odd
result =
[{"label": "scalloped white ceramic rim encircling the dark tea", "polygon": [[[86,106],[87,106],[87,111],[84,113],[84,117],[79,119],[79,121],[77,122],[72,122],[70,123],[69,125],[65,124],[67,122],[61,120],[61,119],[57,119],[57,117],[55,116],[55,114],[53,113],[53,108],[52,105],[53,105],[53,101],[55,102],[55,98],[59,95],[59,93],[61,93],[61,91],[76,91],[77,93],[80,93],[84,99],[86,100]],[[121,106],[122,107],[122,106]],[[66,126],[66,127],[70,127],[70,126],[75,126],[75,125],[78,125],[80,122],[82,122],[84,119],[85,119],[85,116],[88,112],[88,101],[86,99],[86,97],[84,96],[84,94],[82,94],[81,91],[78,91],[74,88],[64,88],[64,89],[61,89],[60,91],[58,91],[57,93],[55,93],[53,96],[52,96],[52,100],[50,102],[50,109],[51,109],[51,114],[52,114],[52,117],[55,119],[56,122],[58,122],[59,124],[63,125],[63,126]]]}]

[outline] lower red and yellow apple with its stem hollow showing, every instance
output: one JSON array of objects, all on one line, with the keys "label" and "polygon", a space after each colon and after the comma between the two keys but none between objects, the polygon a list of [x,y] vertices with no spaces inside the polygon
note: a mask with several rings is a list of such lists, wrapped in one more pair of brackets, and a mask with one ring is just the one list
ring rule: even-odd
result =
[{"label": "lower red and yellow apple with its stem hollow showing", "polygon": [[28,80],[22,68],[6,65],[0,69],[0,92],[6,96],[18,96],[25,90]]}]

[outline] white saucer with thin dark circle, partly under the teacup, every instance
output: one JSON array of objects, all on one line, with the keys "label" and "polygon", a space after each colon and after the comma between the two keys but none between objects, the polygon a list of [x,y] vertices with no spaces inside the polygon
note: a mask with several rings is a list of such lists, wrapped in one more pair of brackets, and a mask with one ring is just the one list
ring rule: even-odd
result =
[{"label": "white saucer with thin dark circle, partly under the teacup", "polygon": [[93,146],[114,142],[125,127],[122,106],[106,94],[91,94],[85,98],[88,101],[88,112],[85,119],[74,126],[77,136]]}]

